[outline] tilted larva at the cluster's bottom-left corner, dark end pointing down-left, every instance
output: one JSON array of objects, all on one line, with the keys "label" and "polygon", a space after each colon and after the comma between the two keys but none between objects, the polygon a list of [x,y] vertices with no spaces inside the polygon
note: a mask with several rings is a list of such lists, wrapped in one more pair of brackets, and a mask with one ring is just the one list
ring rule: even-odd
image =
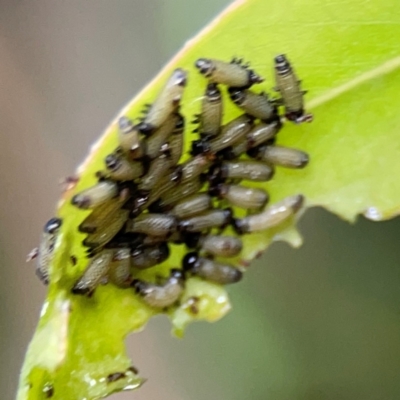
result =
[{"label": "tilted larva at the cluster's bottom-left corner, dark end pointing down-left", "polygon": [[107,277],[113,256],[113,250],[103,250],[96,254],[90,260],[83,275],[73,286],[72,293],[88,296],[93,294],[100,282]]}]

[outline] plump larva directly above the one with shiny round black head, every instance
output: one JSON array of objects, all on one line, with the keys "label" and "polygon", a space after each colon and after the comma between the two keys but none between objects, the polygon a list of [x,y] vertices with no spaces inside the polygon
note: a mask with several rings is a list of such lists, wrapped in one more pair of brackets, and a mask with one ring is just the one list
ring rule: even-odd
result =
[{"label": "plump larva directly above the one with shiny round black head", "polygon": [[242,241],[235,236],[189,234],[185,241],[189,248],[216,257],[234,257],[242,251]]}]

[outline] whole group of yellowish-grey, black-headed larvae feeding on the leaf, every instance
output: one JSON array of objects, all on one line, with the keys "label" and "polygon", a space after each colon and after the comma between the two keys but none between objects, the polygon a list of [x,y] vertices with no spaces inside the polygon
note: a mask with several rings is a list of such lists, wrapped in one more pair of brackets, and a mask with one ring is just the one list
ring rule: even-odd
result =
[{"label": "whole group of yellowish-grey, black-headed larvae feeding on the leaf", "polygon": [[[179,300],[189,276],[237,282],[242,271],[218,258],[241,252],[240,235],[275,227],[301,208],[300,194],[266,206],[265,190],[241,184],[270,180],[275,166],[308,163],[306,153],[274,144],[284,120],[280,106],[287,120],[312,119],[304,112],[305,92],[286,57],[275,57],[278,99],[249,90],[263,78],[241,60],[201,58],[195,65],[208,83],[191,157],[179,163],[185,126],[179,109],[187,73],[178,68],[137,124],[119,118],[119,147],[106,157],[98,183],[72,198],[76,207],[93,210],[79,225],[87,234],[83,245],[89,264],[73,293],[91,295],[100,283],[112,282],[133,288],[145,303],[162,309]],[[222,126],[223,85],[243,114]],[[223,203],[247,210],[247,216],[238,218],[231,207],[220,207]],[[61,224],[58,218],[47,222],[38,250],[37,273],[45,283]],[[228,226],[239,236],[224,235]],[[182,265],[158,282],[137,279],[135,271],[168,259],[170,243],[187,247]]]}]

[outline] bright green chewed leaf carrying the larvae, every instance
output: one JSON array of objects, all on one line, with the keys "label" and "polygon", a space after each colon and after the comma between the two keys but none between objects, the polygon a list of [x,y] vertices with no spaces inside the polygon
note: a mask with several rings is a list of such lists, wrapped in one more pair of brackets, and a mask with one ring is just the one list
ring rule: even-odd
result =
[{"label": "bright green chewed leaf carrying the larvae", "polygon": [[[270,91],[272,57],[286,53],[303,86],[309,91],[312,124],[286,124],[278,142],[310,154],[310,165],[301,171],[278,169],[267,190],[271,201],[303,193],[307,207],[323,206],[348,221],[358,214],[374,220],[399,213],[400,186],[400,17],[398,2],[386,0],[248,0],[233,3],[165,67],[121,114],[136,117],[151,102],[167,76],[180,66],[189,71],[182,111],[199,111],[205,80],[193,66],[199,57],[229,60],[243,56],[266,81]],[[225,120],[239,114],[228,104]],[[187,127],[187,148],[190,129]],[[77,226],[88,212],[70,205],[77,191],[95,183],[95,172],[117,146],[115,121],[79,168],[80,181],[64,194],[58,215],[64,223],[51,266],[51,285],[36,334],[22,370],[18,400],[97,399],[114,391],[140,386],[142,380],[128,370],[125,336],[137,331],[157,313],[132,291],[107,285],[90,298],[74,296],[70,288],[86,268],[84,235]],[[244,237],[245,248],[237,263],[247,264],[272,240],[301,238],[292,223]],[[176,247],[168,262],[144,277],[180,265],[183,249]],[[78,259],[73,266],[70,256]],[[200,299],[193,315],[190,299]],[[192,320],[214,321],[230,308],[224,288],[189,279],[181,306],[169,311],[174,332],[183,334]],[[127,372],[126,372],[127,371]],[[108,382],[110,374],[125,377]]]}]

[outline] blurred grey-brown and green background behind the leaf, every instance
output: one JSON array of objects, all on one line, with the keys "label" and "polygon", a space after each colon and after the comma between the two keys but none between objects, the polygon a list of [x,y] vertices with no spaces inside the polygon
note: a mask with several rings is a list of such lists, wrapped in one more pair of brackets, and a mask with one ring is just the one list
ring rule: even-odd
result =
[{"label": "blurred grey-brown and green background behind the leaf", "polygon": [[[45,296],[25,257],[53,215],[59,179],[228,3],[0,1],[2,399],[14,398]],[[229,288],[222,321],[177,340],[160,317],[131,336],[149,381],[113,398],[399,399],[400,221],[350,226],[315,209],[300,229],[300,250],[273,245]]]}]

